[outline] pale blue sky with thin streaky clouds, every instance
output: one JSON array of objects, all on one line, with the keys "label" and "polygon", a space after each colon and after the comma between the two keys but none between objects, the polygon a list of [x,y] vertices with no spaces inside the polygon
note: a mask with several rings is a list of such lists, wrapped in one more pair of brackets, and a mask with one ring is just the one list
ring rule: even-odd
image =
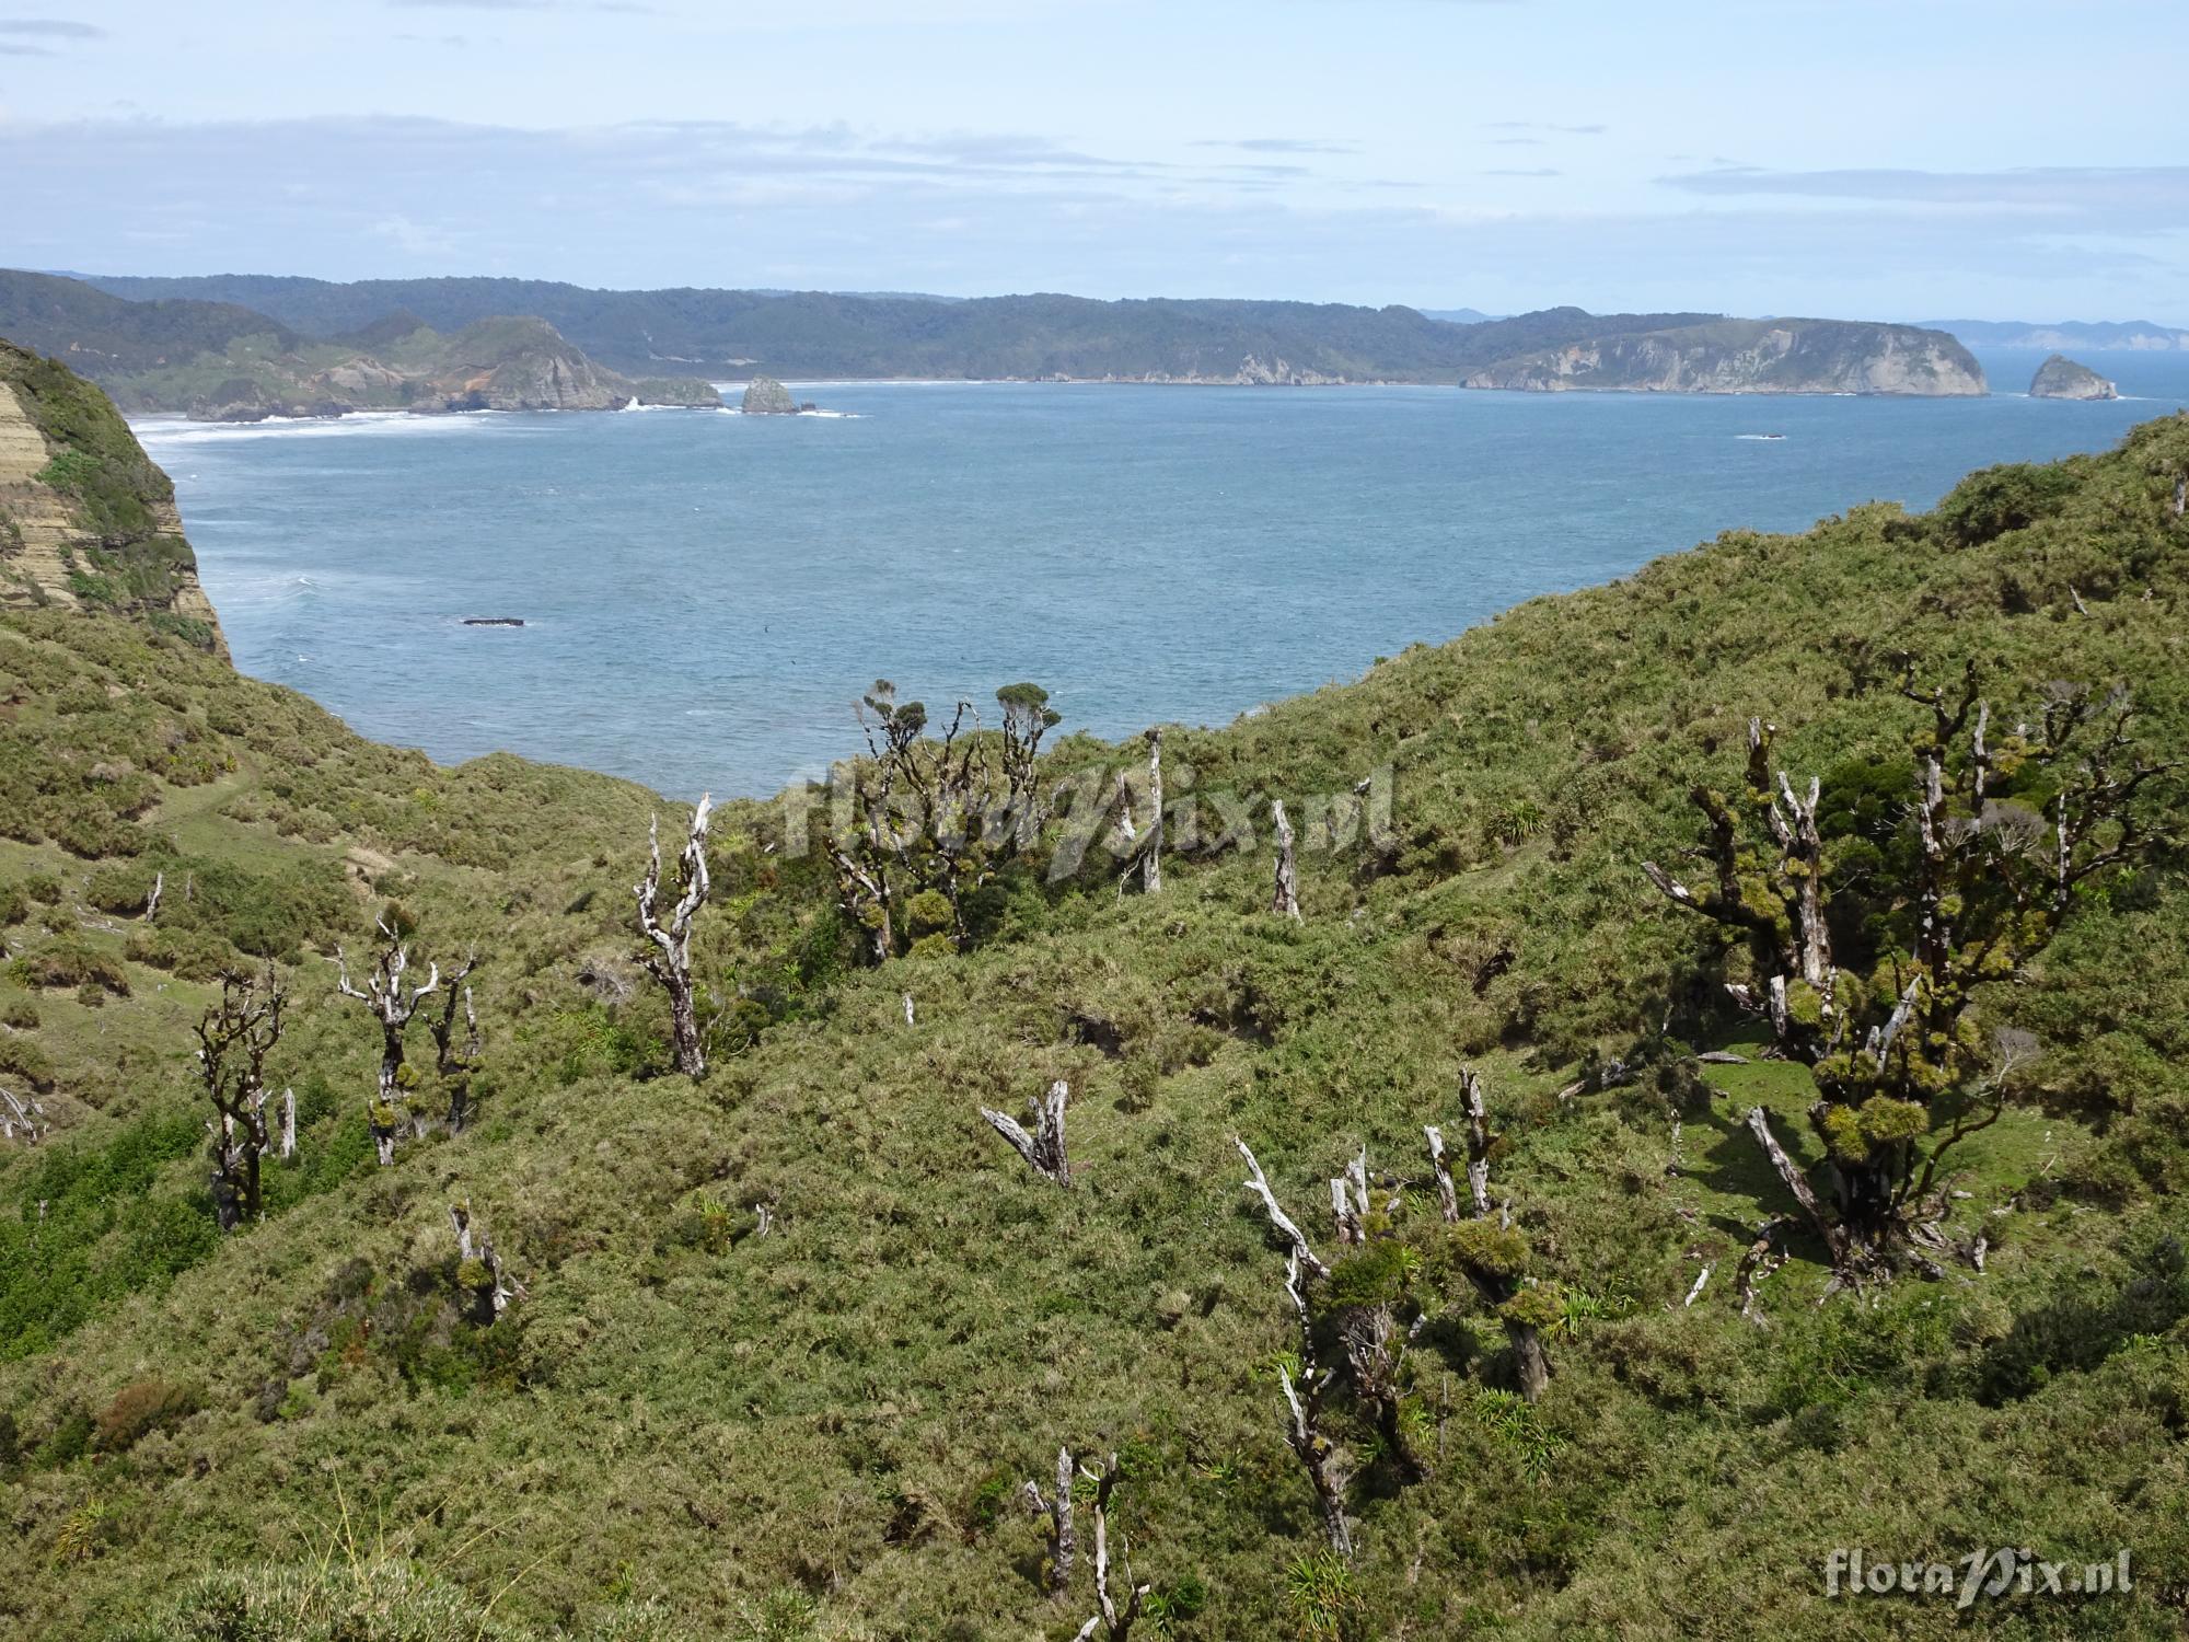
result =
[{"label": "pale blue sky with thin streaky clouds", "polygon": [[0,0],[0,263],[2189,324],[2180,0]]}]

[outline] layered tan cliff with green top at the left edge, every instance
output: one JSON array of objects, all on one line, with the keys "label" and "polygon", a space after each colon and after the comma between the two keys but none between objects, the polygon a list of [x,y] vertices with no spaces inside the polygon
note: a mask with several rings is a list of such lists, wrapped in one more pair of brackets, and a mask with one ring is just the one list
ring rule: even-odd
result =
[{"label": "layered tan cliff with green top at the left edge", "polygon": [[166,475],[99,388],[4,342],[0,604],[138,615],[228,655]]}]

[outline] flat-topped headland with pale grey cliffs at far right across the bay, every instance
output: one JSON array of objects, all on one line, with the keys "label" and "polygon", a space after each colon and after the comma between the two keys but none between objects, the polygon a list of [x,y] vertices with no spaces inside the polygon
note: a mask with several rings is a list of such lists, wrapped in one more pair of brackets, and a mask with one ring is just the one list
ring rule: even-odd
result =
[{"label": "flat-topped headland with pale grey cliffs at far right across the bay", "polygon": [[1850,320],[1725,320],[1602,337],[1469,372],[1467,388],[1626,394],[1990,392],[1974,355],[1944,331]]}]

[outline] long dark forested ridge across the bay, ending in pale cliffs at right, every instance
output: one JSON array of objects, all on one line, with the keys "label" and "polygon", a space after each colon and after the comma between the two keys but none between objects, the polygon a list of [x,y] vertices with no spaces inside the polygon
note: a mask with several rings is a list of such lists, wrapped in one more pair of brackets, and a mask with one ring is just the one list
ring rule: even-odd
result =
[{"label": "long dark forested ridge across the bay, ending in pale cliffs at right", "polygon": [[[1049,293],[957,302],[827,291],[589,291],[479,278],[331,285],[247,274],[99,285],[125,296],[250,304],[315,337],[341,335],[392,309],[442,328],[488,313],[536,313],[619,370],[727,377],[1620,388],[1646,374],[1659,392],[1983,392],[1983,372],[1950,337],[1861,322],[1762,326],[1714,313],[1541,309],[1449,324],[1405,307],[1092,302]],[[1631,342],[1637,337],[1648,342]],[[1550,363],[1554,350],[1598,363]],[[1583,383],[1583,374],[1598,381]]]}]

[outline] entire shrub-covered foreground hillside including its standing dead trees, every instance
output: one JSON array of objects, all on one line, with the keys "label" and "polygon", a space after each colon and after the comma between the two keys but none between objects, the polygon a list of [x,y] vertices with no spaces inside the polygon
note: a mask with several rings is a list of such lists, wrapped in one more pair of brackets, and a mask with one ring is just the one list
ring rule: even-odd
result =
[{"label": "entire shrub-covered foreground hillside including its standing dead trees", "polygon": [[[849,801],[819,847],[827,793],[694,828],[363,742],[144,620],[0,611],[0,1629],[1114,1635],[1101,1572],[1189,1642],[2171,1635],[2178,773],[2018,926],[2038,959],[1909,1005],[1968,1009],[1893,1060],[1959,1066],[1929,1132],[1832,1117],[1817,987],[1762,981],[1821,906],[1834,1009],[1883,1022],[1896,887],[2086,812],[2049,736],[2189,755],[2182,475],[2167,420],[1931,514],[1731,530],[1169,727],[1154,808],[1147,742],[1070,701],[1011,685],[939,758],[878,685],[887,771],[1057,806],[887,860]],[[1992,788],[1926,832],[1968,679]],[[1745,930],[1694,915],[1721,836]],[[1758,1121],[1828,1202],[1946,1145],[1931,1241],[1834,1290],[1848,1222]],[[2134,1579],[1970,1618],[1830,1600],[1834,1546]]]}]

